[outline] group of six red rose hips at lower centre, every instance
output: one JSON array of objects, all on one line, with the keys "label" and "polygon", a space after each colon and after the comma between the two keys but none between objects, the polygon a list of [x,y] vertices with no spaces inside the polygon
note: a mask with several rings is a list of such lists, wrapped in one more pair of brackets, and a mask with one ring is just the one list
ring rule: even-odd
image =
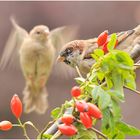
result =
[{"label": "group of six red rose hips at lower centre", "polygon": [[[79,97],[81,95],[81,89],[78,86],[74,86],[71,90],[71,95],[75,98]],[[80,114],[77,117],[87,129],[92,127],[93,118],[102,118],[102,112],[100,111],[100,109],[90,102],[87,103],[84,100],[76,100],[75,109]],[[74,120],[76,119],[72,115],[64,115],[61,118],[63,124],[58,125],[58,129],[61,131],[62,134],[67,136],[73,136],[78,132],[77,128],[72,124]]]}]

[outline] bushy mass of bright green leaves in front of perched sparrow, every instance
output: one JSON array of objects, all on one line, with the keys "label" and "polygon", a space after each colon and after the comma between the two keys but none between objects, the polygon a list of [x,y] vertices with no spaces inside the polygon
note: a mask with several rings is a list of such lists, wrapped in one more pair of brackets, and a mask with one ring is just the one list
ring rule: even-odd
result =
[{"label": "bushy mass of bright green leaves in front of perched sparrow", "polygon": [[[111,52],[106,55],[100,49],[94,51],[92,57],[97,62],[93,64],[86,81],[82,78],[76,80],[82,83],[85,91],[82,99],[89,95],[90,98],[92,96],[91,102],[97,104],[102,111],[102,132],[110,139],[125,139],[126,135],[140,135],[139,129],[121,122],[120,102],[124,101],[123,87],[125,85],[135,89],[136,83],[134,62],[130,55],[121,50],[113,50],[116,39],[116,34],[112,34],[107,46]],[[103,85],[104,82],[107,83],[107,86]],[[83,125],[76,127],[79,130],[74,138],[95,138],[93,132],[91,133]]]}]

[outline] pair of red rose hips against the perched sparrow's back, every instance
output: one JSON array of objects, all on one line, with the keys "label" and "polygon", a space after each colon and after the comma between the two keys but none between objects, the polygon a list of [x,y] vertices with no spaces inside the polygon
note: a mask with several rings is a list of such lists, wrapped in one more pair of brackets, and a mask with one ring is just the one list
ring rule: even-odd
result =
[{"label": "pair of red rose hips against the perched sparrow's back", "polygon": [[[106,30],[98,36],[97,44],[98,44],[98,47],[102,48],[104,53],[107,53],[108,52],[108,48],[107,48],[108,43],[109,43],[108,31]],[[116,40],[116,44],[115,44],[114,48],[116,48],[117,45],[118,45],[118,40]]]}]

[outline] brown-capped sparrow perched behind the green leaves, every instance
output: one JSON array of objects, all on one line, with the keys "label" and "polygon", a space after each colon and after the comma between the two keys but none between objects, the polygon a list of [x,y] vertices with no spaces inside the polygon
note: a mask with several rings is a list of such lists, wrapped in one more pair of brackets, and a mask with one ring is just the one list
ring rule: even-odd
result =
[{"label": "brown-capped sparrow perched behind the green leaves", "polygon": [[[133,59],[140,55],[140,25],[133,30],[117,33],[117,40],[116,49],[128,52]],[[57,60],[74,68],[77,66],[83,74],[86,74],[95,62],[91,53],[97,48],[97,38],[74,40],[64,45]]]}]

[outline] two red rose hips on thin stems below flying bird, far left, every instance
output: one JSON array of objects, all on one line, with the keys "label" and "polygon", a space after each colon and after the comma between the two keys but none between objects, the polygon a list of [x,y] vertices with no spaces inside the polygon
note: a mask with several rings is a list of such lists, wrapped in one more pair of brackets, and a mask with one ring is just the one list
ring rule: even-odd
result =
[{"label": "two red rose hips on thin stems below flying bird, far left", "polygon": [[[11,99],[11,111],[13,115],[19,119],[22,114],[22,102],[19,99],[18,95],[14,95]],[[8,131],[12,128],[12,123],[10,121],[4,120],[0,122],[0,130]]]}]

